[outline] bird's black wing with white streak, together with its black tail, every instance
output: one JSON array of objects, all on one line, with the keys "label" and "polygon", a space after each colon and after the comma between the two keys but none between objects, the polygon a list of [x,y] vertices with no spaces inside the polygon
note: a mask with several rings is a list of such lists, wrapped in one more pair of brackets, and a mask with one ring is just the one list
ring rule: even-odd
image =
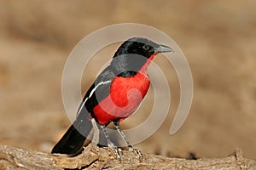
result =
[{"label": "bird's black wing with white streak, together with its black tail", "polygon": [[93,113],[93,108],[98,105],[102,99],[108,96],[113,77],[113,71],[111,67],[108,66],[96,78],[96,81],[90,86],[79,106],[76,120],[60,141],[55,144],[52,153],[76,156],[81,152],[84,140],[88,138],[90,130],[92,129],[89,114]]}]

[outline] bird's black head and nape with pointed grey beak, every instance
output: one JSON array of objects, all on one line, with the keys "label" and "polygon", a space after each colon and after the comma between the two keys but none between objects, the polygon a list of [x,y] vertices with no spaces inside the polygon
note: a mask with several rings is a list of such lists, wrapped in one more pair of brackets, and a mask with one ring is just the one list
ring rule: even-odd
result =
[{"label": "bird's black head and nape with pointed grey beak", "polygon": [[132,37],[122,43],[111,61],[112,70],[121,77],[137,74],[153,54],[171,52],[172,48],[143,37]]}]

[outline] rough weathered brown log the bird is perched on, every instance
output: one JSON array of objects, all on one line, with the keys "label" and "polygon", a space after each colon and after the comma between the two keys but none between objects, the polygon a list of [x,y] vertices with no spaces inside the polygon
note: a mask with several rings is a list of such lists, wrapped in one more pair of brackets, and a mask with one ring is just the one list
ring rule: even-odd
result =
[{"label": "rough weathered brown log the bird is perched on", "polygon": [[83,153],[75,157],[51,155],[36,150],[24,150],[0,145],[0,170],[3,169],[256,169],[256,161],[244,158],[241,150],[224,158],[201,158],[186,160],[166,156],[143,154],[143,160],[124,150],[119,162],[109,148],[87,146]]}]

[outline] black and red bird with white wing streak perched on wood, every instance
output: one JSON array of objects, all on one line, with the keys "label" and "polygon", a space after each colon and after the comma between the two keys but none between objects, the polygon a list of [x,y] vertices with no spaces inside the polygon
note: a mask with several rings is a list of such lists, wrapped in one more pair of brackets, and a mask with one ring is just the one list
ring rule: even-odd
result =
[{"label": "black and red bird with white wing streak perched on wood", "polygon": [[[90,135],[96,128],[102,129],[108,146],[116,149],[106,130],[111,122],[129,150],[134,151],[119,127],[119,122],[137,111],[150,86],[148,65],[157,54],[167,52],[174,51],[145,37],[131,37],[123,42],[113,54],[110,64],[85,93],[75,121],[55,144],[51,153],[79,155],[84,141],[91,141]],[[141,156],[140,151],[135,151]],[[119,150],[115,150],[115,154],[120,158]]]}]

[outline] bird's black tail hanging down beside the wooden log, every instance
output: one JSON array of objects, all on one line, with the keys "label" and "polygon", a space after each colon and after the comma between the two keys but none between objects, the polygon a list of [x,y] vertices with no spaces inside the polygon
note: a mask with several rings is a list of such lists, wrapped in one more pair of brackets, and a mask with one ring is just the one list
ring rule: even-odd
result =
[{"label": "bird's black tail hanging down beside the wooden log", "polygon": [[[79,117],[80,116],[80,117]],[[77,120],[68,128],[61,140],[55,144],[51,153],[67,154],[76,156],[83,150],[84,140],[88,138],[92,129],[90,118],[87,116],[81,117],[79,114]]]}]

